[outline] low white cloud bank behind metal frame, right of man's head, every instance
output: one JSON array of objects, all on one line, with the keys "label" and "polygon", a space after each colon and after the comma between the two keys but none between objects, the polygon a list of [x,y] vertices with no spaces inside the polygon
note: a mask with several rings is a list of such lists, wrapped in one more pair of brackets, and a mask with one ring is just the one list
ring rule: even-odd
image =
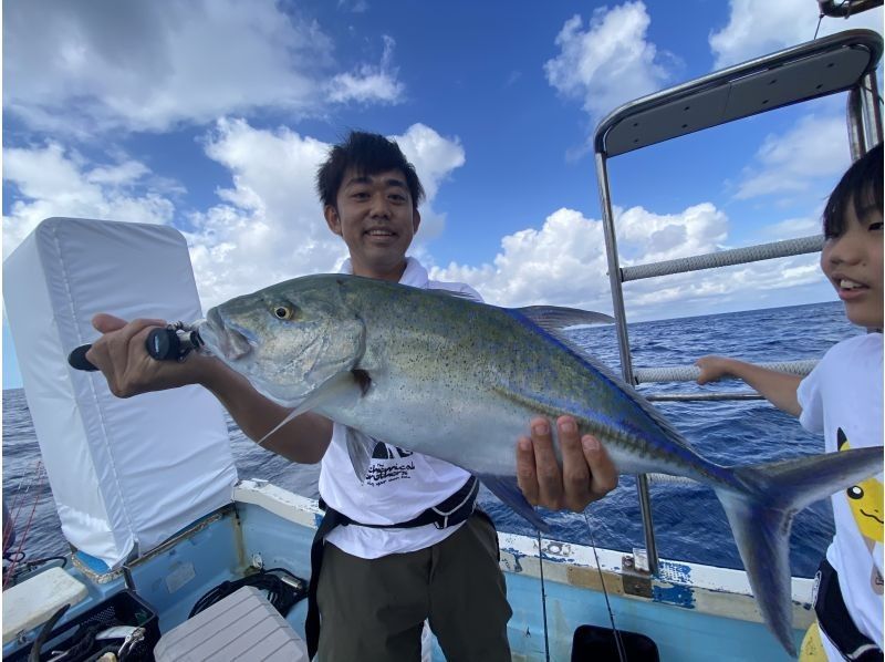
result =
[{"label": "low white cloud bank behind metal frame, right of man's head", "polygon": [[[726,215],[710,203],[679,214],[656,215],[634,207],[617,215],[622,266],[714,252],[728,234]],[[434,267],[431,276],[468,282],[497,306],[543,303],[611,312],[607,271],[602,223],[573,209],[559,209],[540,230],[525,229],[504,237],[492,263],[473,267],[452,262]],[[627,318],[639,321],[705,314],[711,309],[781,306],[779,291],[803,287],[816,288],[808,301],[821,300],[827,292],[818,256],[631,281],[624,283],[624,291]],[[794,301],[803,300],[796,297]]]}]

